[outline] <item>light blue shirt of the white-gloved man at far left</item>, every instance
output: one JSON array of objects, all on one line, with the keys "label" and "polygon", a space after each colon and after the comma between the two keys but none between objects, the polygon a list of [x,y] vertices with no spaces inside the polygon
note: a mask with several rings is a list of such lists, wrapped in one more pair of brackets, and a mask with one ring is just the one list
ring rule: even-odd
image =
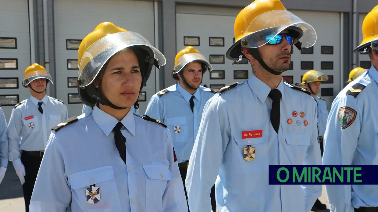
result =
[{"label": "light blue shirt of the white-gloved man at far left", "polygon": [[[42,101],[43,114],[38,110]],[[38,100],[33,96],[12,109],[8,124],[9,159],[20,158],[20,151],[43,151],[51,128],[68,119],[67,107],[56,98],[45,96]]]}]

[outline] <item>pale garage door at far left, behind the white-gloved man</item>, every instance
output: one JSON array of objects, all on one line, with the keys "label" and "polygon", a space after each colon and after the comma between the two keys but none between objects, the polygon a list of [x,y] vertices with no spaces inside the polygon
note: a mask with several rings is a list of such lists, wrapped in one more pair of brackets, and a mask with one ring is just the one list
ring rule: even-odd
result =
[{"label": "pale garage door at far left, behind the white-gloved man", "polygon": [[15,104],[28,98],[22,86],[30,62],[27,0],[0,0],[0,105],[7,121]]}]

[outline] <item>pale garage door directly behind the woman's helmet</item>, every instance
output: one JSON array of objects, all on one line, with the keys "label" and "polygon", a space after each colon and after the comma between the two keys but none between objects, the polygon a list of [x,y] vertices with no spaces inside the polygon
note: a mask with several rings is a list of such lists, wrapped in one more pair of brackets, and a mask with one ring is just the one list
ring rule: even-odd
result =
[{"label": "pale garage door directly behind the woman's helmet", "polygon": [[[126,0],[54,0],[57,98],[64,101],[70,117],[81,114],[83,104],[77,95],[77,48],[81,40],[102,22],[112,22],[138,32],[155,45],[154,3]],[[139,97],[139,112],[156,93],[154,69]]]}]

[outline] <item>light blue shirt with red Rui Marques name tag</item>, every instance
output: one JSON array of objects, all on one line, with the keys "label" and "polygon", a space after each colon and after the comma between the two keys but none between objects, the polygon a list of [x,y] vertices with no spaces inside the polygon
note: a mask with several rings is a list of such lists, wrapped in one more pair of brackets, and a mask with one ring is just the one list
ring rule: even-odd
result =
[{"label": "light blue shirt with red Rui Marques name tag", "polygon": [[[270,121],[271,89],[254,75],[206,103],[185,181],[190,211],[211,210],[214,182],[222,212],[309,212],[321,196],[320,185],[268,184],[270,164],[321,164],[314,98],[283,80],[277,89],[282,93],[278,135]],[[242,137],[243,131],[256,130],[261,136]],[[256,148],[251,161],[243,158],[248,145]]]}]

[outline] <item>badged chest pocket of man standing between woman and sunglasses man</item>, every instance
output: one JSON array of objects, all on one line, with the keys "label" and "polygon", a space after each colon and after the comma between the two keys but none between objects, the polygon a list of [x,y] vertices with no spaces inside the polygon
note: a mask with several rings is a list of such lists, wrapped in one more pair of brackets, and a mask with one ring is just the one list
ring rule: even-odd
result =
[{"label": "badged chest pocket of man standing between woman and sunglasses man", "polygon": [[173,142],[188,141],[188,125],[186,123],[186,117],[170,117],[167,118],[166,122],[172,135]]}]

